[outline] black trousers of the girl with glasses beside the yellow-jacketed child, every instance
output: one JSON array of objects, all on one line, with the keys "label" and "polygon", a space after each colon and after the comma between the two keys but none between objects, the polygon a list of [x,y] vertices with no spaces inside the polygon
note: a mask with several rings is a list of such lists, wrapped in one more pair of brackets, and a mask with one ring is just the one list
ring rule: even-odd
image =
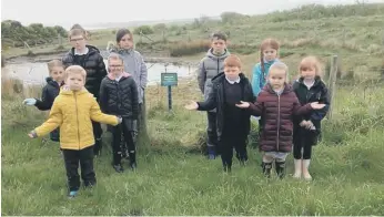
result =
[{"label": "black trousers of the girl with glasses beside the yellow-jacketed child", "polygon": [[[121,145],[127,145],[130,162],[135,162],[135,143],[133,141],[133,131],[128,127],[128,121],[123,122],[117,126],[112,127],[112,153],[113,153],[113,164],[121,164],[122,148]],[[124,138],[122,140],[122,135]],[[122,144],[123,143],[123,144]]]}]

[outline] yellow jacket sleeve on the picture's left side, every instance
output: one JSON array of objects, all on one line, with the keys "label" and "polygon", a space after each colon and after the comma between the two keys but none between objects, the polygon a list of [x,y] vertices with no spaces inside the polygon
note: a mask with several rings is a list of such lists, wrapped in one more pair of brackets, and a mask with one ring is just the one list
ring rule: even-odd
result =
[{"label": "yellow jacket sleeve on the picture's left side", "polygon": [[55,130],[62,124],[63,117],[58,101],[54,101],[48,120],[34,130],[38,136],[43,136]]}]

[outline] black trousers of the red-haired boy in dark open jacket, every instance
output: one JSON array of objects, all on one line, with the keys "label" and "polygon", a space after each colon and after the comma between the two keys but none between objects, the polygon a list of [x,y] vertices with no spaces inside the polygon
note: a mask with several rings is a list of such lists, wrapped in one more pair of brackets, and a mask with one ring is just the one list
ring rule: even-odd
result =
[{"label": "black trousers of the red-haired boy in dark open jacket", "polygon": [[223,166],[232,166],[233,148],[236,151],[236,158],[239,161],[247,161],[246,136],[236,133],[232,135],[223,135],[220,141],[221,161]]}]

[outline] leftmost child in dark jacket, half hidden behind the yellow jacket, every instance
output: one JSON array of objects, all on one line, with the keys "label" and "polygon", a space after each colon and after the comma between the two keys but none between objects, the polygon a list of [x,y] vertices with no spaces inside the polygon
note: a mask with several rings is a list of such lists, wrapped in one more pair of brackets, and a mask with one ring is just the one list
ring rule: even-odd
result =
[{"label": "leftmost child in dark jacket, half hidden behind the yellow jacket", "polygon": [[[23,104],[34,105],[40,111],[48,111],[52,107],[54,99],[59,95],[60,86],[63,84],[64,68],[60,60],[52,60],[47,63],[49,76],[46,79],[47,85],[42,89],[41,100],[26,99]],[[51,141],[59,142],[59,128],[50,133]]]}]

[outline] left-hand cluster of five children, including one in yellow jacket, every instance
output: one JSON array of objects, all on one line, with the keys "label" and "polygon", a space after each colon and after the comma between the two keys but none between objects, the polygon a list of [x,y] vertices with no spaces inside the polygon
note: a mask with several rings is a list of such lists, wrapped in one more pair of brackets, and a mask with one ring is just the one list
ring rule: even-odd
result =
[{"label": "left-hand cluster of five children, including one in yellow jacket", "polygon": [[41,111],[50,110],[49,118],[29,136],[50,133],[52,141],[60,142],[71,198],[80,188],[79,164],[84,187],[97,183],[93,157],[102,149],[100,123],[108,124],[113,135],[113,168],[118,173],[124,170],[122,147],[127,147],[130,168],[137,168],[135,137],[146,86],[146,66],[133,49],[129,30],[117,32],[117,45],[109,49],[108,69],[100,51],[87,44],[87,37],[88,32],[79,25],[70,30],[73,48],[62,60],[48,63],[50,76],[41,100],[23,101]]}]

